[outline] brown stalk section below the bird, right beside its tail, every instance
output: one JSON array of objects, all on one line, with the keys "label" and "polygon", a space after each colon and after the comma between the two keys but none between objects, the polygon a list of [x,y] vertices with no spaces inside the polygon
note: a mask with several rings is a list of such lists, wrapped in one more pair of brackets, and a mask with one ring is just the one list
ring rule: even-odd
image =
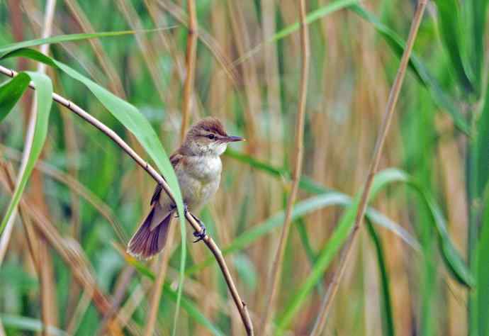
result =
[{"label": "brown stalk section below the bird, right beside its tail", "polygon": [[162,298],[164,278],[167,275],[168,260],[170,257],[170,252],[172,251],[172,241],[174,235],[175,225],[170,225],[168,232],[168,247],[164,249],[161,260],[159,262],[159,271],[154,281],[152,296],[150,302],[150,312],[146,320],[145,336],[151,336],[154,332],[154,325],[156,324],[156,319],[158,315],[159,302]]}]

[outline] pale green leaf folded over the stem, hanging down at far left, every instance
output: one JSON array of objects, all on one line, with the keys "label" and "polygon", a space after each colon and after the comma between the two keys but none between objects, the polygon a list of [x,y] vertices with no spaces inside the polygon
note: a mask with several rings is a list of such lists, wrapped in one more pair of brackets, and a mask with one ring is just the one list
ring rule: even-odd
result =
[{"label": "pale green leaf folded over the stem, hanging down at far left", "polygon": [[34,169],[34,164],[37,161],[41,150],[43,150],[44,142],[47,135],[47,125],[52,104],[52,82],[45,74],[36,72],[25,72],[30,77],[35,86],[35,97],[37,99],[37,118],[35,119],[35,129],[33,135],[33,144],[28,153],[26,169],[20,177],[20,182],[13,191],[13,196],[7,208],[4,220],[0,224],[0,234],[9,222],[12,215],[15,214],[18,202],[21,201],[21,196],[26,188],[27,181]]}]

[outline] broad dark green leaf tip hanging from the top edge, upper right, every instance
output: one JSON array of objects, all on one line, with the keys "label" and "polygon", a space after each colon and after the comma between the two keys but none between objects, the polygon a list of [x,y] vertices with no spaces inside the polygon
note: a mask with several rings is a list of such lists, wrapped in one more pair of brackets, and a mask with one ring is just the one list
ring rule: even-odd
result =
[{"label": "broad dark green leaf tip hanging from the top edge, upper right", "polygon": [[461,86],[466,91],[472,91],[470,69],[467,67],[465,57],[466,46],[461,40],[464,34],[459,0],[434,0],[434,3],[437,4],[440,33],[451,64],[459,77]]}]

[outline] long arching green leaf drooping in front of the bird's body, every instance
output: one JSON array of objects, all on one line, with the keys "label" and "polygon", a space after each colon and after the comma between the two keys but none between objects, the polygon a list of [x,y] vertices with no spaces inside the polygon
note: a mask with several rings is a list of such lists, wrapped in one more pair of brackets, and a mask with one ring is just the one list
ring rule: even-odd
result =
[{"label": "long arching green leaf drooping in front of the bird's body", "polygon": [[[112,113],[114,117],[120,123],[122,123],[125,128],[128,128],[133,135],[140,142],[142,147],[146,150],[148,155],[152,158],[157,168],[162,172],[164,179],[169,184],[174,198],[176,201],[176,207],[179,213],[180,221],[180,231],[181,231],[181,262],[180,262],[180,279],[179,279],[179,298],[181,298],[181,289],[184,284],[185,275],[185,261],[186,261],[186,230],[185,230],[185,215],[184,215],[184,201],[181,198],[181,191],[179,187],[178,180],[172,164],[164,151],[162,143],[159,142],[157,134],[147,121],[145,116],[140,113],[140,111],[131,105],[127,101],[120,99],[118,96],[112,94],[110,91],[104,89],[99,84],[96,84],[91,79],[84,77],[79,72],[75,71],[71,67],[68,67],[62,62],[59,62],[51,57],[47,57],[40,52],[32,49],[19,49],[13,50],[1,58],[6,57],[29,57],[39,62],[43,62],[51,67],[57,67],[61,69],[64,73],[76,79],[77,81],[84,84],[91,92],[96,96],[97,99],[102,103],[109,112]],[[176,302],[176,313],[175,317],[178,318],[179,315],[180,300]]]}]

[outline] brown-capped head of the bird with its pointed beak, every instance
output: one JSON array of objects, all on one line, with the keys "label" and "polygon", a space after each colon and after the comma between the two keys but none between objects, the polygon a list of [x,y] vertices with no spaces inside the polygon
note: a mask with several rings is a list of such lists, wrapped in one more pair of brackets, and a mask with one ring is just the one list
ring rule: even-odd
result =
[{"label": "brown-capped head of the bird with its pointed beak", "polygon": [[217,118],[203,118],[192,125],[185,136],[184,147],[191,155],[221,155],[229,142],[243,141],[244,138],[227,135],[223,124]]}]

